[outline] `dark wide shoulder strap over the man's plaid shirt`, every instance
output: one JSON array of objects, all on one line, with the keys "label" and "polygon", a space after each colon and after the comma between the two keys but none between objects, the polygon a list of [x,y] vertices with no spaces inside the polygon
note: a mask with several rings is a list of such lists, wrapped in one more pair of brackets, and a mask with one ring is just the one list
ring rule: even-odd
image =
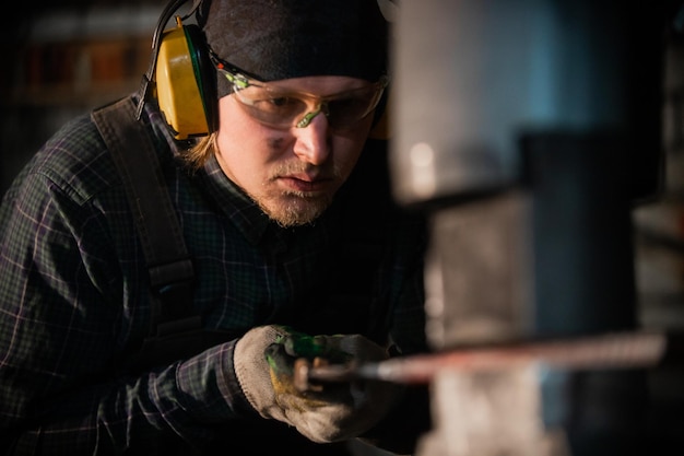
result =
[{"label": "dark wide shoulder strap over the man's plaid shirt", "polygon": [[152,139],[128,96],[93,110],[92,119],[119,171],[135,219],[156,308],[151,334],[199,326],[191,314],[193,267]]}]

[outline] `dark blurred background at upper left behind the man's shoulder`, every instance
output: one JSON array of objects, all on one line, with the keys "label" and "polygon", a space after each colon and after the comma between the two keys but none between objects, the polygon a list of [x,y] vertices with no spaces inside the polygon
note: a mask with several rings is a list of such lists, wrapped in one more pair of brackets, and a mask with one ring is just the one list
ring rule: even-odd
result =
[{"label": "dark blurred background at upper left behind the man's shoulder", "polygon": [[2,28],[0,188],[66,120],[140,85],[161,0],[16,2]]}]

